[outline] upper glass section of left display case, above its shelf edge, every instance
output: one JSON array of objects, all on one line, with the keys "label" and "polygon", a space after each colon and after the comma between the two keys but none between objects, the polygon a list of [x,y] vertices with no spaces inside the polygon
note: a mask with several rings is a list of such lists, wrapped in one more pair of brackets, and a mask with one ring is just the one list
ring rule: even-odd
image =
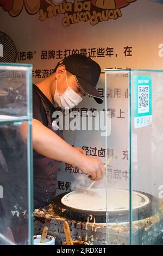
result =
[{"label": "upper glass section of left display case, above its shelf edge", "polygon": [[[29,95],[30,65],[0,65],[0,117],[17,119],[30,117],[32,104]],[[30,86],[31,87],[31,86]],[[2,116],[3,115],[3,116]]]}]

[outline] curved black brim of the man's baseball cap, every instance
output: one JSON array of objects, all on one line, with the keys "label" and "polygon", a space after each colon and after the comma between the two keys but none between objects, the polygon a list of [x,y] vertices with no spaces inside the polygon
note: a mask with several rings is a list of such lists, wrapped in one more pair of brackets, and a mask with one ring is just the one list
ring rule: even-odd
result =
[{"label": "curved black brim of the man's baseball cap", "polygon": [[84,92],[87,95],[92,96],[98,104],[103,103],[102,96],[97,92],[97,89],[95,86],[93,86],[93,84],[89,83],[88,81],[84,80],[79,76],[75,76],[75,77],[78,81],[79,86],[84,90]]}]

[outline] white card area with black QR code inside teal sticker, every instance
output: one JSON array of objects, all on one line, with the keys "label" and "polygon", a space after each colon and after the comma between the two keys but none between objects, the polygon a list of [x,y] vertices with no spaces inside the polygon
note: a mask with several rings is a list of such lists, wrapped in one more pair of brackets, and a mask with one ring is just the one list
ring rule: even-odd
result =
[{"label": "white card area with black QR code inside teal sticker", "polygon": [[139,86],[138,88],[138,113],[149,112],[149,86]]}]

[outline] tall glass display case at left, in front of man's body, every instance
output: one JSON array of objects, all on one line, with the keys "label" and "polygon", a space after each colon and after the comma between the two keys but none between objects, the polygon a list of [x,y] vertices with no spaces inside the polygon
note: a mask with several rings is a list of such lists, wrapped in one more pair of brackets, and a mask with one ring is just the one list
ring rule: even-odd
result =
[{"label": "tall glass display case at left, in front of man's body", "polygon": [[0,63],[0,245],[33,237],[32,65]]}]

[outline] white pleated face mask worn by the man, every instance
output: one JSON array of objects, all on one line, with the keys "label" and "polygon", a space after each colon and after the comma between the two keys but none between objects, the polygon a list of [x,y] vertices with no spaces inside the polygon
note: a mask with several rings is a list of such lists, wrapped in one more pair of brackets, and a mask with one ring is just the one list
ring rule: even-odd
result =
[{"label": "white pleated face mask worn by the man", "polygon": [[56,89],[54,94],[54,101],[62,108],[62,109],[70,109],[74,106],[77,106],[79,102],[81,102],[83,99],[80,97],[76,92],[74,92],[71,87],[68,86],[67,82],[67,74],[66,74],[66,83],[67,83],[67,89],[64,93],[59,93],[57,90],[57,80],[56,80]]}]

